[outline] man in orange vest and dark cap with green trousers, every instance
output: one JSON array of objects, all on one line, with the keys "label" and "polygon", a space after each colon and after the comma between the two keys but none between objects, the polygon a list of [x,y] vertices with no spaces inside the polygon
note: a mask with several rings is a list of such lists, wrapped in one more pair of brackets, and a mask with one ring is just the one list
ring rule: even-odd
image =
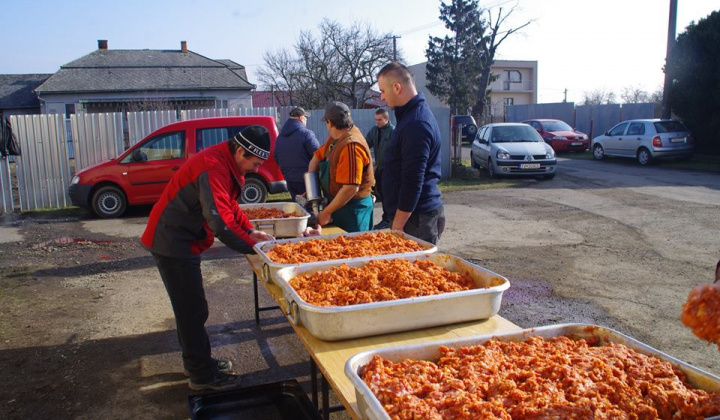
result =
[{"label": "man in orange vest and dark cap with green trousers", "polygon": [[318,215],[318,223],[324,226],[332,218],[347,232],[370,230],[370,190],[375,184],[370,148],[344,103],[330,102],[323,119],[330,135],[308,165],[308,171],[319,172],[320,185],[329,201]]}]

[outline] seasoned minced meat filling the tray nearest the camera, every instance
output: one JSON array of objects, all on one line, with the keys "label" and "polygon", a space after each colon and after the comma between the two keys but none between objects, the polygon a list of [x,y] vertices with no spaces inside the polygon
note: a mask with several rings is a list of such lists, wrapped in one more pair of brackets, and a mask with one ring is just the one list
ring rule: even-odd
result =
[{"label": "seasoned minced meat filling the tray nearest the camera", "polygon": [[436,361],[375,355],[360,377],[392,419],[702,419],[720,394],[621,344],[568,337],[441,346]]}]

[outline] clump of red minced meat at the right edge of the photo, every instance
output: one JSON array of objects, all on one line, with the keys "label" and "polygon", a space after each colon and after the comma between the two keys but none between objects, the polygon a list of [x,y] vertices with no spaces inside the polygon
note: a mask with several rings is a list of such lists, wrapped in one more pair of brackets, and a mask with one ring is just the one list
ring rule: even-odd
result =
[{"label": "clump of red minced meat at the right edge of the photo", "polygon": [[698,338],[716,343],[720,350],[720,288],[703,284],[690,291],[680,320]]}]

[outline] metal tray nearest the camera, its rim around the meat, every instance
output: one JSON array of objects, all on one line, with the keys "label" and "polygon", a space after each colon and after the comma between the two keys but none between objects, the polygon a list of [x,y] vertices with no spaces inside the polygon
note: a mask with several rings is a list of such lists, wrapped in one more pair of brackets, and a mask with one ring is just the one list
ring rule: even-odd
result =
[{"label": "metal tray nearest the camera, its rim around the meat", "polygon": [[[530,328],[526,330],[503,333],[488,334],[474,337],[433,341],[427,343],[408,344],[401,346],[390,346],[376,350],[367,350],[351,357],[345,364],[345,375],[355,386],[357,396],[358,412],[364,419],[390,420],[390,417],[383,409],[380,401],[375,397],[370,388],[360,377],[360,368],[370,362],[374,355],[380,355],[392,362],[399,362],[405,359],[415,360],[437,360],[440,346],[459,348],[463,346],[476,346],[483,344],[489,339],[500,341],[524,341],[528,337],[540,336],[545,338],[567,336],[571,339],[600,339],[600,344],[616,343],[623,344],[639,353],[655,356],[660,360],[670,362],[675,368],[683,371],[692,386],[706,391],[720,392],[720,377],[702,371],[694,366],[675,359],[659,350],[656,350],[634,338],[628,337],[615,330],[596,325],[588,324],[559,324],[546,327]],[[715,419],[715,417],[712,417]]]}]

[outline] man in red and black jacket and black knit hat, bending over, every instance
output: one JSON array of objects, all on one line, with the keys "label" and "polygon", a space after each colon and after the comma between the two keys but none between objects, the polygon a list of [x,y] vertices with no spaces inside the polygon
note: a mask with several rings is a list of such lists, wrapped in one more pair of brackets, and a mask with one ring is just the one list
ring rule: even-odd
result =
[{"label": "man in red and black jacket and black knit hat, bending over", "polygon": [[211,356],[200,254],[214,236],[243,254],[253,253],[255,243],[273,239],[254,230],[237,203],[245,173],[257,172],[269,155],[270,134],[252,125],[193,156],[165,187],[141,238],[170,297],[184,371],[194,390],[239,385],[238,377],[227,373],[232,363]]}]

